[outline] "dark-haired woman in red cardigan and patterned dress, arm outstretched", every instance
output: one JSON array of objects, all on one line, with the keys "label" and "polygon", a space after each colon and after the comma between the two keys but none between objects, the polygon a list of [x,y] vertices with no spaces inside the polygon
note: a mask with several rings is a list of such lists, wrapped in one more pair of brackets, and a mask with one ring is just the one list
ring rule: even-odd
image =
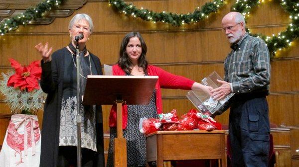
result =
[{"label": "dark-haired woman in red cardigan and patterned dress, arm outstretched", "polygon": [[[158,118],[162,113],[161,88],[202,90],[213,89],[185,77],[168,73],[149,65],[146,60],[147,45],[139,32],[128,33],[121,44],[120,59],[113,66],[115,76],[158,76],[149,105],[123,106],[123,135],[127,139],[128,167],[146,167],[146,137],[139,132],[140,118]],[[109,116],[110,144],[107,167],[113,167],[113,140],[116,137],[116,106]]]}]

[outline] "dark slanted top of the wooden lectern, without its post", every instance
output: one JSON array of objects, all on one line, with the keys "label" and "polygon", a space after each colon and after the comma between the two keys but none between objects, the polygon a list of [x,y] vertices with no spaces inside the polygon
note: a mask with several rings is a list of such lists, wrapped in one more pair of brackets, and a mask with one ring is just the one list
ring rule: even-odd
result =
[{"label": "dark slanted top of the wooden lectern, without its post", "polygon": [[87,76],[83,104],[149,104],[158,76]]}]

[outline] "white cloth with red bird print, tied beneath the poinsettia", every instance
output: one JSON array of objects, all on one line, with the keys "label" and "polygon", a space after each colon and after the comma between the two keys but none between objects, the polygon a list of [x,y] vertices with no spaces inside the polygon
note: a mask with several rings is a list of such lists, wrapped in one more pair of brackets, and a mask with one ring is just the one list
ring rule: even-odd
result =
[{"label": "white cloth with red bird print, tied beneath the poinsettia", "polygon": [[36,115],[12,115],[0,152],[0,167],[39,167],[40,138]]}]

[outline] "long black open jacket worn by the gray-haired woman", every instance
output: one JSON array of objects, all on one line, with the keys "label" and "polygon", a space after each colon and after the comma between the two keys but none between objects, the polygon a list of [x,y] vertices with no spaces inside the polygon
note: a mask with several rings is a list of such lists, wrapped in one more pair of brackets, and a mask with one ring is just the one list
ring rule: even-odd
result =
[{"label": "long black open jacket worn by the gray-haired woman", "polygon": [[[40,167],[56,167],[58,163],[60,110],[64,75],[64,57],[71,56],[68,49],[62,48],[52,54],[52,61],[41,61],[40,86],[47,93],[44,104],[43,122],[41,130]],[[103,75],[101,62],[91,54],[99,75]],[[94,167],[105,167],[103,141],[103,115],[101,105],[96,106],[97,157]]]}]

